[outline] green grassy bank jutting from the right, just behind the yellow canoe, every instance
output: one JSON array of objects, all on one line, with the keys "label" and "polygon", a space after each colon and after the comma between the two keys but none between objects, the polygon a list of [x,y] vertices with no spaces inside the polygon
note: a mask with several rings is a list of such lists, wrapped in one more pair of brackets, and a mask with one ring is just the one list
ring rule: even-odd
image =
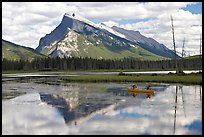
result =
[{"label": "green grassy bank jutting from the right, just behind the yellow canoe", "polygon": [[83,75],[62,78],[66,82],[164,82],[202,85],[202,74],[162,75]]}]

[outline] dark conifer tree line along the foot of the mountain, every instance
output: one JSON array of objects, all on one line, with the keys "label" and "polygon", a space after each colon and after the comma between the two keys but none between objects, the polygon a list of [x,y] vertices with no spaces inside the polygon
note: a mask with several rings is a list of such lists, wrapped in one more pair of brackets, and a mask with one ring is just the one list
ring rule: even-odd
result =
[{"label": "dark conifer tree line along the foot of the mountain", "polygon": [[[202,58],[179,59],[178,67],[201,69]],[[2,70],[96,70],[96,69],[174,69],[174,60],[141,61],[133,58],[121,60],[92,58],[36,58],[33,61],[2,60]]]}]

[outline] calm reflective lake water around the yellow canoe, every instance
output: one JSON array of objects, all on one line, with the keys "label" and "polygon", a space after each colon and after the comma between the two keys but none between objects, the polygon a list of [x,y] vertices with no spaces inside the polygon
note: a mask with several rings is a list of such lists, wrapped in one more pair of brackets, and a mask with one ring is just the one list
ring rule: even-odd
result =
[{"label": "calm reflective lake water around the yellow canoe", "polygon": [[[67,75],[81,75],[67,74]],[[2,75],[2,134],[201,135],[202,85],[65,83],[60,74]],[[154,96],[127,92],[151,84]]]}]

